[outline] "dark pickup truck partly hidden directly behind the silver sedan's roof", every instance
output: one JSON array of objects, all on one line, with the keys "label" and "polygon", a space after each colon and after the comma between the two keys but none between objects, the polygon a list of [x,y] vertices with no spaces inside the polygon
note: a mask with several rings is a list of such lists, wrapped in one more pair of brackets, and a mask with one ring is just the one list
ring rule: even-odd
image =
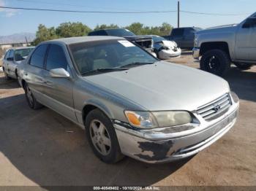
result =
[{"label": "dark pickup truck partly hidden directly behind the silver sedan's roof", "polygon": [[151,36],[137,36],[125,28],[102,29],[91,31],[88,36],[121,36],[130,42],[138,44],[143,49],[154,55],[153,39]]}]

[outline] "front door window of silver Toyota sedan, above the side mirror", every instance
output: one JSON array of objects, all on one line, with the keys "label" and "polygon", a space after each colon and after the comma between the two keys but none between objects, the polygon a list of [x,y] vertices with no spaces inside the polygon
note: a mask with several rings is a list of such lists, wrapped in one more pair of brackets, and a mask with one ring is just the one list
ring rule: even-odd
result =
[{"label": "front door window of silver Toyota sedan, above the side mirror", "polygon": [[62,47],[56,44],[51,44],[48,57],[46,60],[46,69],[65,69],[67,70],[67,59],[62,50]]}]

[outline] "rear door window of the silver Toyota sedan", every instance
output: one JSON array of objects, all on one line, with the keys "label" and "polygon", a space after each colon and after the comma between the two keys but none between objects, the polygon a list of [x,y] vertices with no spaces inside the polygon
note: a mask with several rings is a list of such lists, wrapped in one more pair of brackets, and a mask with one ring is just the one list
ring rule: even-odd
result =
[{"label": "rear door window of the silver Toyota sedan", "polygon": [[42,44],[34,50],[33,55],[31,55],[30,64],[32,66],[37,66],[39,68],[44,67],[45,52],[47,50],[48,44]]}]

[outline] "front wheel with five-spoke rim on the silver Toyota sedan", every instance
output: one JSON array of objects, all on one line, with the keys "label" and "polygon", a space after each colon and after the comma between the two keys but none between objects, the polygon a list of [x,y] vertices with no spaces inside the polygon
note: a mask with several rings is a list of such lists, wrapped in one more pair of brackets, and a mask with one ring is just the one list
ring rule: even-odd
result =
[{"label": "front wheel with five-spoke rim on the silver Toyota sedan", "polygon": [[100,160],[105,163],[117,163],[124,157],[113,124],[103,112],[99,109],[89,112],[85,125],[91,149]]}]

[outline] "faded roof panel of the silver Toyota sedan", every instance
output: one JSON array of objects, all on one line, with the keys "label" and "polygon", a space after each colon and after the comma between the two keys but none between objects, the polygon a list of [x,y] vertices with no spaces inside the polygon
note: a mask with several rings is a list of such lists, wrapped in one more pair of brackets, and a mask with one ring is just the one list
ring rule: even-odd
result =
[{"label": "faded roof panel of the silver Toyota sedan", "polygon": [[80,42],[94,42],[94,41],[103,41],[103,40],[111,40],[111,39],[124,39],[122,37],[116,36],[78,36],[78,37],[70,37],[64,39],[54,39],[48,42],[63,42],[64,44],[75,44]]}]

